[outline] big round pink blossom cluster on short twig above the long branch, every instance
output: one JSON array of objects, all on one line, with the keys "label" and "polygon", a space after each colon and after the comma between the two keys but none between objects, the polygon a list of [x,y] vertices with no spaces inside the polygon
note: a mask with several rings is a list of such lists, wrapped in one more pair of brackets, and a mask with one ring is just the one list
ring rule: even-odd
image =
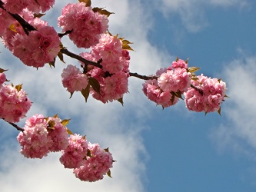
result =
[{"label": "big round pink blossom cluster on short twig above the long branch", "polygon": [[58,25],[62,31],[71,31],[69,38],[78,48],[90,48],[98,43],[100,35],[108,29],[108,18],[93,12],[84,2],[68,4],[62,8]]}]

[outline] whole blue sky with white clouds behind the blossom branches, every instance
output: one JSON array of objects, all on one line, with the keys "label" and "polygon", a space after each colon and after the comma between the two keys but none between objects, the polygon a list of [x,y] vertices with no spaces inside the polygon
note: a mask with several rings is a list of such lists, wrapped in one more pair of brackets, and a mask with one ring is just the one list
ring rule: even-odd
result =
[{"label": "whole blue sky with white clouds behind the blossom branches", "polygon": [[[70,2],[76,2],[70,1]],[[56,1],[44,16],[56,25],[65,5]],[[7,78],[24,84],[35,113],[71,118],[68,127],[88,141],[110,147],[113,178],[90,184],[76,179],[58,162],[60,154],[29,160],[19,154],[18,131],[0,122],[1,191],[255,191],[256,190],[256,2],[253,0],[93,1],[111,15],[110,31],[134,42],[131,71],[155,74],[171,61],[189,58],[198,74],[227,82],[227,101],[217,113],[194,113],[180,101],[156,107],[141,91],[143,81],[129,79],[124,107],[118,102],[85,104],[80,94],[62,88],[55,69],[28,68],[0,46],[0,68]],[[52,20],[50,20],[50,18]],[[60,29],[58,29],[60,31]],[[65,47],[78,50],[65,39]],[[78,65],[65,57],[66,64]],[[22,127],[24,120],[20,123]]]}]

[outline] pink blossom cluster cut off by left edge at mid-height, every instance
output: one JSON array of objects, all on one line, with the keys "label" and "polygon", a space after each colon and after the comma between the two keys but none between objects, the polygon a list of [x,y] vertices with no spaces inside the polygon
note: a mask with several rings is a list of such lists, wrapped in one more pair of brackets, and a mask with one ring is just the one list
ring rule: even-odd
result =
[{"label": "pink blossom cluster cut off by left edge at mid-height", "polygon": [[[1,74],[1,81],[5,75]],[[17,90],[8,84],[0,85],[0,118],[11,123],[18,123],[21,118],[25,118],[32,102],[25,94],[25,91]]]}]

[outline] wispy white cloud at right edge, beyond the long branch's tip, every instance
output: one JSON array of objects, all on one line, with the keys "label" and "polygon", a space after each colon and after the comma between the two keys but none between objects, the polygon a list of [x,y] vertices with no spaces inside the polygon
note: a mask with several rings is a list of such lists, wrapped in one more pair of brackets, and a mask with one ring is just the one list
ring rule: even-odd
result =
[{"label": "wispy white cloud at right edge, beyond the long branch's tip", "polygon": [[219,149],[232,148],[256,158],[256,57],[231,61],[224,69],[228,96],[223,110],[228,121],[214,130],[212,137]]}]

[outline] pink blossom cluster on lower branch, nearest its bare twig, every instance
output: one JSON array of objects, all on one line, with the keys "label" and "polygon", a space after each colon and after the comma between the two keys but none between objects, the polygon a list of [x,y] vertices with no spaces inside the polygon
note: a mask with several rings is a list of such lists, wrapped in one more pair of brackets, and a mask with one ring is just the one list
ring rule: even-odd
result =
[{"label": "pink blossom cluster on lower branch, nearest its bare twig", "polygon": [[17,140],[25,157],[42,158],[68,146],[67,127],[57,117],[44,118],[42,114],[35,114],[25,121],[24,131],[18,134]]}]

